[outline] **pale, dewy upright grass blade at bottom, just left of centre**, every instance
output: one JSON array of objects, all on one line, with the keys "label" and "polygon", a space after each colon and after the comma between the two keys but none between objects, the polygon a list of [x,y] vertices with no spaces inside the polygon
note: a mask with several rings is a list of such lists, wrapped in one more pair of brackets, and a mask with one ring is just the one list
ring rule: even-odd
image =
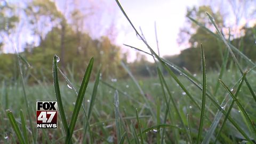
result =
[{"label": "pale, dewy upright grass blade at bottom, just left of centre", "polygon": [[116,119],[117,143],[119,143],[121,139],[121,126],[120,126],[120,117],[119,117],[119,99],[118,99],[117,91],[115,91],[115,119]]}]

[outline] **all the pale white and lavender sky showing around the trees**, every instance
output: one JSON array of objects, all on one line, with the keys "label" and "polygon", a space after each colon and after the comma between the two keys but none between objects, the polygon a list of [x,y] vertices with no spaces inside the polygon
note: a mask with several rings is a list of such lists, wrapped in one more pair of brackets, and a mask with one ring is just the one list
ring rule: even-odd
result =
[{"label": "all the pale white and lavender sky showing around the trees", "polygon": [[[25,2],[26,4],[28,1],[11,0],[8,2],[18,3],[21,7],[26,7],[22,2]],[[132,45],[148,51],[145,44],[143,44],[143,42],[136,36],[135,31],[132,29],[121,10],[119,10],[119,7],[114,0],[55,0],[54,2],[57,5],[58,10],[62,13],[68,13],[74,8],[74,6],[76,6],[85,15],[92,15],[85,18],[84,23],[87,29],[85,28],[84,30],[93,38],[99,38],[102,35],[106,35],[106,29],[109,29],[114,25],[114,43],[122,47],[121,51],[123,53],[129,53],[129,61],[134,61],[136,59],[136,51],[124,46],[123,44]],[[185,48],[180,47],[177,43],[179,29],[185,22],[187,7],[198,5],[198,1],[119,0],[119,2],[137,30],[139,30],[139,27],[142,29],[147,42],[155,51],[157,51],[154,26],[156,22],[159,51],[161,56],[179,54],[180,51]],[[90,7],[93,7],[93,14],[90,13]],[[69,17],[70,15],[66,14],[66,18],[68,19]],[[26,42],[34,41],[39,44],[38,38],[34,37],[32,32],[25,28],[24,25],[17,30],[19,29],[21,30],[22,36],[17,36],[20,41],[17,45],[18,51],[22,51],[22,47],[25,46]],[[50,29],[47,31],[49,30]],[[45,32],[47,33],[47,31]],[[5,52],[13,52],[13,49],[5,49]],[[153,61],[153,59],[150,59],[151,57],[148,56],[147,58],[148,60]]]}]

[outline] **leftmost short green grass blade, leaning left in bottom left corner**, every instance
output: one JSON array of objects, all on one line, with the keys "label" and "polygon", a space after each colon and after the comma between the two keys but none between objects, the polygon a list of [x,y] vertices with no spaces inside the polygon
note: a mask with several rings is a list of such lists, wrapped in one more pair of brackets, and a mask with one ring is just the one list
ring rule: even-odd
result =
[{"label": "leftmost short green grass blade, leaning left in bottom left corner", "polygon": [[12,128],[13,128],[14,132],[17,135],[17,138],[18,138],[19,142],[21,144],[25,144],[25,140],[23,139],[23,137],[21,135],[20,129],[18,127],[18,124],[17,124],[13,114],[12,114],[12,111],[11,110],[6,110],[6,113],[7,113],[7,116],[9,117],[9,121],[12,125]]}]

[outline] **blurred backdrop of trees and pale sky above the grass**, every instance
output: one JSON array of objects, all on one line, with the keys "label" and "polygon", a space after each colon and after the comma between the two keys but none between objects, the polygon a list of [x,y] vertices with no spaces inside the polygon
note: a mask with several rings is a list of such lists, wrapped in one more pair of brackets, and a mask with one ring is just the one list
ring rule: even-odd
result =
[{"label": "blurred backdrop of trees and pale sky above the grass", "polygon": [[[202,43],[207,69],[220,67],[225,45],[188,17],[216,33],[209,12],[223,35],[251,60],[256,60],[256,1],[120,1],[134,26],[154,51],[193,74],[201,72]],[[123,61],[135,76],[156,75],[148,51],[109,0],[0,1],[0,79],[19,77],[17,56],[29,84],[52,82],[52,59],[73,79],[81,79],[91,57],[94,71],[102,65],[105,79],[126,78]],[[228,66],[227,66],[228,67]]]}]

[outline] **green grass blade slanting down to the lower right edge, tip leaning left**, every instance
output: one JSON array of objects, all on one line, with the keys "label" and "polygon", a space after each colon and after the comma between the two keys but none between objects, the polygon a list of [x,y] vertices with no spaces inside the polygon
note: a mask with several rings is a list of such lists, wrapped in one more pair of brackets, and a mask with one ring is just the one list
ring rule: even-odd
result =
[{"label": "green grass blade slanting down to the lower right edge, tip leaning left", "polygon": [[236,102],[237,106],[241,109],[244,117],[246,118],[247,123],[250,125],[250,128],[251,128],[251,130],[252,130],[252,132],[254,134],[254,138],[256,138],[256,128],[255,128],[254,124],[252,123],[253,122],[252,119],[247,114],[245,108],[238,101],[238,99],[235,97],[235,95],[228,89],[227,85],[221,81],[221,79],[220,79],[220,83],[224,87],[224,89],[229,93],[229,95],[232,97],[232,99]]}]

